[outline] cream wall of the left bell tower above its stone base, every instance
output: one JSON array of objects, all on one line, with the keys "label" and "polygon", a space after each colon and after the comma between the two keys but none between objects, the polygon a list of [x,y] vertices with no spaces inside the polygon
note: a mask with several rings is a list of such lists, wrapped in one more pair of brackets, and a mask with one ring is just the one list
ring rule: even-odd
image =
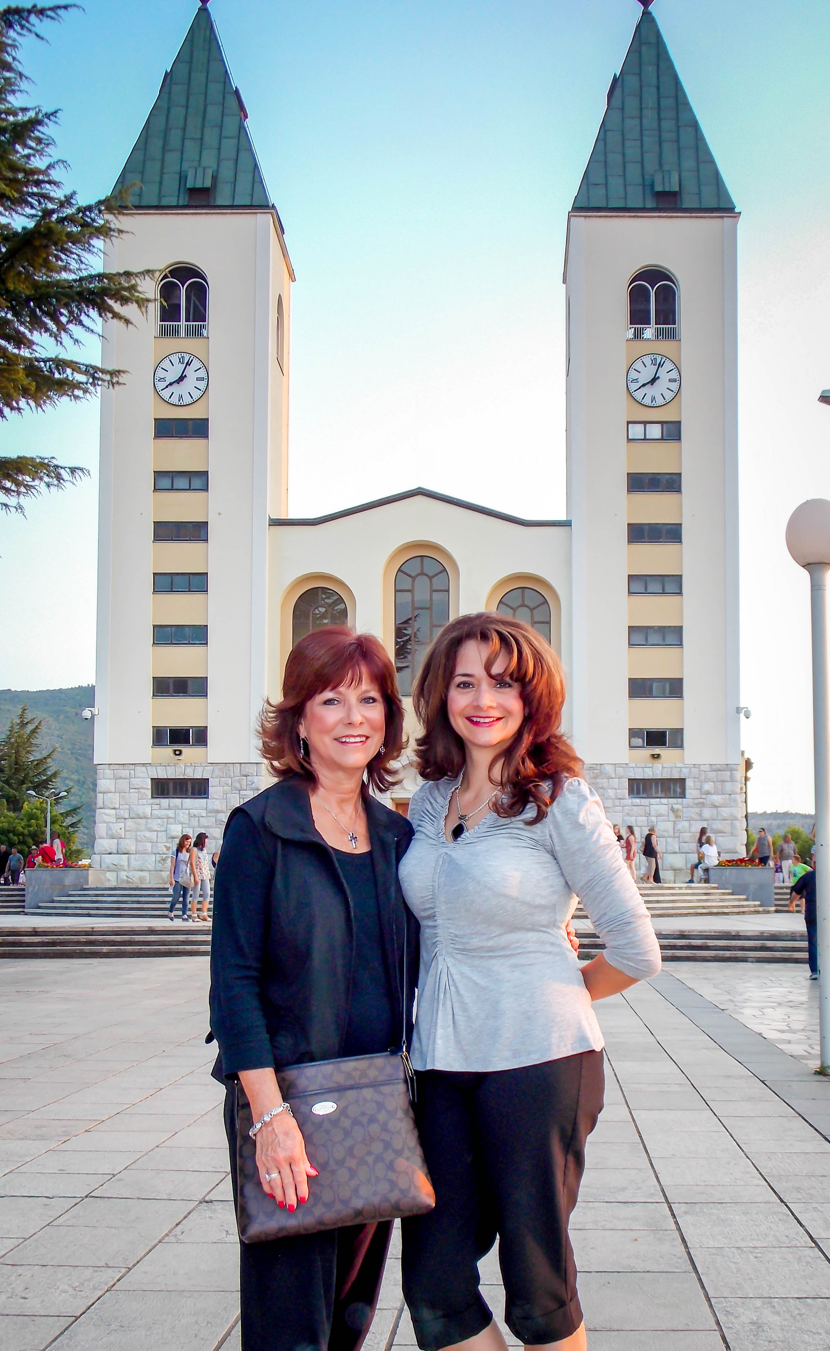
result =
[{"label": "cream wall of the left bell tower above its stone base", "polygon": [[[174,262],[192,262],[208,278],[207,339],[155,339],[154,305],[131,328],[104,326],[104,363],[128,376],[101,397],[96,762],[150,759],[153,621],[208,623],[210,744],[197,758],[257,758],[253,724],[266,686],[268,509],[284,511],[287,501],[292,274],[270,212],[137,211],[105,253],[111,269],[161,273]],[[276,359],[280,293],[284,372]],[[188,409],[169,408],[153,389],[155,362],[174,350],[195,351],[208,367],[208,393]],[[210,450],[204,440],[153,440],[154,416],[185,415],[210,415]],[[207,509],[204,494],[154,494],[153,467],[210,469]],[[210,543],[153,544],[153,519],[207,519]],[[153,570],[203,571],[205,554],[207,597],[153,596]]]}]

